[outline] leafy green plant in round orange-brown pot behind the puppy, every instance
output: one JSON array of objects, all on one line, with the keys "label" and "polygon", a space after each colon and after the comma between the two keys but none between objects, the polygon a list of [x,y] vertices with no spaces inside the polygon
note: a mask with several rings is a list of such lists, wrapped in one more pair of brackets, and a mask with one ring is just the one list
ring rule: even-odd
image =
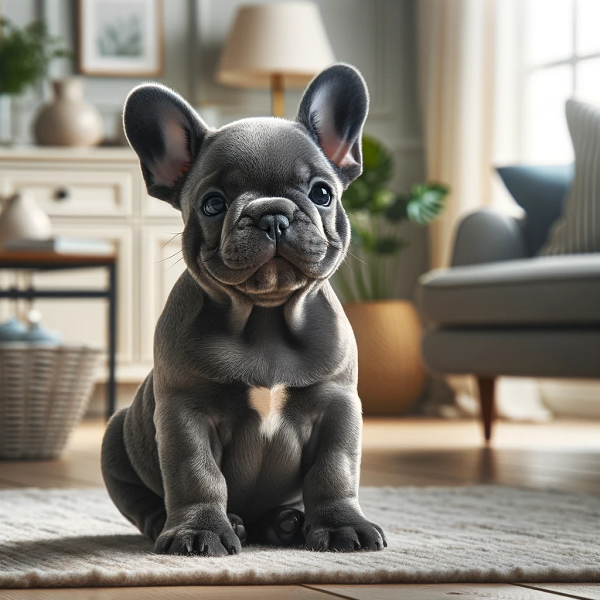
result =
[{"label": "leafy green plant in round orange-brown pot behind the puppy", "polygon": [[431,223],[449,191],[425,183],[396,194],[389,188],[393,173],[391,152],[363,137],[363,173],[342,196],[352,225],[350,252],[334,279],[358,344],[363,408],[379,415],[405,411],[425,381],[419,317],[412,302],[396,299],[399,256],[407,246],[399,226]]}]

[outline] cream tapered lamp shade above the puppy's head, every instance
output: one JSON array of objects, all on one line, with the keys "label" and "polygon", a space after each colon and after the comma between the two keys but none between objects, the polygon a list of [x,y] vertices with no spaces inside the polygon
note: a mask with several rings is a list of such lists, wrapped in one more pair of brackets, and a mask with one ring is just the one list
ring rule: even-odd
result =
[{"label": "cream tapered lamp shade above the puppy's head", "polygon": [[217,81],[269,87],[277,75],[286,87],[302,87],[334,60],[312,2],[242,5],[221,55]]}]

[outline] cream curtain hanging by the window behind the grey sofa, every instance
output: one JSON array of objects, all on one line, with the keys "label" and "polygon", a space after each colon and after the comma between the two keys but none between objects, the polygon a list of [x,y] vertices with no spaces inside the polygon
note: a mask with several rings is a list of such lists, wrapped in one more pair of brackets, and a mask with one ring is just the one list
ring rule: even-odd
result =
[{"label": "cream curtain hanging by the window behind the grey sofa", "polygon": [[[522,81],[521,0],[417,0],[427,178],[451,188],[430,228],[431,267],[450,264],[458,221],[482,206],[520,212],[494,167],[516,162]],[[449,378],[461,412],[477,413],[472,378]],[[498,412],[545,420],[536,380],[501,378]]]}]

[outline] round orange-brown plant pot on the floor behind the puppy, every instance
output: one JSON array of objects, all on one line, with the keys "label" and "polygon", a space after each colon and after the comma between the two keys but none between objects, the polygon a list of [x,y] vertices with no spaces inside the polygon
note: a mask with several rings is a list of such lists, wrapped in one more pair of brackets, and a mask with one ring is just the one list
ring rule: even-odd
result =
[{"label": "round orange-brown plant pot on the floor behind the puppy", "polygon": [[382,300],[344,306],[358,345],[358,394],[365,415],[400,415],[425,383],[421,322],[411,302]]}]

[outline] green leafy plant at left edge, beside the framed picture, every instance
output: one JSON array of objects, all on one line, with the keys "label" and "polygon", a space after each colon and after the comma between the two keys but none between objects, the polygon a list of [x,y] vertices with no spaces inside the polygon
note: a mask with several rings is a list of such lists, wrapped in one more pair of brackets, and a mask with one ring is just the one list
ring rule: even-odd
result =
[{"label": "green leafy plant at left edge, beside the framed picture", "polygon": [[13,141],[12,98],[44,77],[50,61],[70,58],[60,38],[48,34],[45,23],[34,21],[22,29],[0,20],[0,143]]}]

